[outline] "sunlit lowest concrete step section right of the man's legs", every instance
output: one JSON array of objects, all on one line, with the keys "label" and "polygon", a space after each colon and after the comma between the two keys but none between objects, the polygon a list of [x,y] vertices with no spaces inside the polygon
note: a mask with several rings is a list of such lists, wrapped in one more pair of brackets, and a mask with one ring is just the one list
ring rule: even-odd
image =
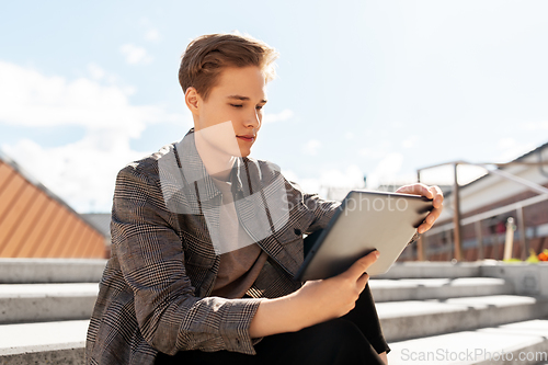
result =
[{"label": "sunlit lowest concrete step section right of the man's legs", "polygon": [[548,320],[389,343],[390,365],[548,364]]}]

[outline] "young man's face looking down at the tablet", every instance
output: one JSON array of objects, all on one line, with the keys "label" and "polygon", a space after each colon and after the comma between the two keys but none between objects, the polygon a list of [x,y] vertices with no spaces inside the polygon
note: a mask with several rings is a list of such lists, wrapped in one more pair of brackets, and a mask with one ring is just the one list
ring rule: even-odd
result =
[{"label": "young man's face looking down at the tablet", "polygon": [[263,118],[265,80],[255,66],[226,68],[194,114],[196,138],[230,156],[249,156]]}]

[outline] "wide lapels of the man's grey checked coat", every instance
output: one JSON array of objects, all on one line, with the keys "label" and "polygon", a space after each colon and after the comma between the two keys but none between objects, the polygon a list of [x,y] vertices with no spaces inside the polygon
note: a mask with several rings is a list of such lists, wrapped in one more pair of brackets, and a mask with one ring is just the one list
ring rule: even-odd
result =
[{"label": "wide lapels of the man's grey checked coat", "polygon": [[[212,176],[197,152],[194,129],[191,129],[183,140],[174,145],[174,155],[181,171],[184,195],[194,197],[187,199],[192,206],[192,212],[204,214],[209,231],[209,238],[214,243],[218,233],[218,207],[220,206],[220,192],[215,185]],[[295,240],[295,235],[289,231],[288,237],[281,237],[286,229],[289,212],[285,202],[284,179],[279,174],[278,168],[270,166],[272,170],[265,170],[259,161],[249,158],[237,158],[230,181],[232,183],[232,194],[235,205],[239,214],[240,223],[251,236],[251,238],[270,256],[288,273],[295,274],[298,263],[288,254],[278,240]],[[197,199],[195,199],[197,197]],[[267,198],[269,197],[269,198]],[[270,205],[275,207],[271,212]],[[278,231],[279,230],[279,231]],[[215,254],[215,253],[213,253]]]}]

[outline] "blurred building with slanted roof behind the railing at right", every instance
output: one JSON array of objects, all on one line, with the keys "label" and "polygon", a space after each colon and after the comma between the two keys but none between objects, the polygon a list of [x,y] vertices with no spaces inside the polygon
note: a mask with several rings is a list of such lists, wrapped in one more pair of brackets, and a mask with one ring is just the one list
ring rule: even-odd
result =
[{"label": "blurred building with slanted roof behind the railing at right", "polygon": [[[548,187],[548,144],[500,167],[499,171]],[[548,194],[522,183],[489,173],[460,186],[461,252],[465,261],[503,258],[506,221],[515,223],[512,256],[525,259],[548,249]],[[454,259],[454,194],[445,194],[444,210],[434,227],[423,235],[425,260]],[[416,260],[416,244],[406,249],[400,260]]]}]

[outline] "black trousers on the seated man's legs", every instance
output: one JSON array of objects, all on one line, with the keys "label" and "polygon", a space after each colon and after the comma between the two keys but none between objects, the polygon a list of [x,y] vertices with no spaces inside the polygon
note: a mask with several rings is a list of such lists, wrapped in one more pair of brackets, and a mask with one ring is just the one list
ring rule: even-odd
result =
[{"label": "black trousers on the seated man's legs", "polygon": [[383,365],[377,354],[389,351],[369,285],[362,293],[356,307],[346,316],[298,332],[265,337],[254,347],[256,355],[229,351],[182,351],[174,356],[160,353],[155,364]]}]

